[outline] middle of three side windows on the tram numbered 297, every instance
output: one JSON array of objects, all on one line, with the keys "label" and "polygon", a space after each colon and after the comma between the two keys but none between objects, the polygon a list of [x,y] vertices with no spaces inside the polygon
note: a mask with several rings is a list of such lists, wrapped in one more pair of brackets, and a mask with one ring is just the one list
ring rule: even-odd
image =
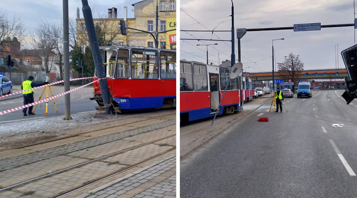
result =
[{"label": "middle of three side windows on the tram numbered 297", "polygon": [[132,79],[159,79],[157,51],[132,50],[131,54]]}]

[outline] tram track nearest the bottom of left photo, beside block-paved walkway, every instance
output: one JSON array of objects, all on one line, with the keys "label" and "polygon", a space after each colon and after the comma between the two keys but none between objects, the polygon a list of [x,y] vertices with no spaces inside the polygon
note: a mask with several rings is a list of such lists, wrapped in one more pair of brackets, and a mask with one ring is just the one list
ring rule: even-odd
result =
[{"label": "tram track nearest the bottom of left photo, beside block-paved walkway", "polygon": [[[55,171],[55,172],[48,173],[48,174],[44,174],[44,175],[41,175],[41,176],[39,176],[39,177],[35,177],[35,178],[32,178],[32,179],[27,179],[27,180],[25,180],[25,181],[23,181],[23,182],[19,182],[19,183],[12,184],[12,185],[9,185],[9,186],[4,187],[4,188],[0,188],[0,192],[3,192],[3,191],[6,191],[6,190],[10,190],[10,189],[16,188],[16,187],[19,187],[19,186],[24,185],[24,184],[27,184],[27,183],[31,183],[31,182],[34,182],[34,181],[36,181],[36,180],[40,180],[40,179],[43,179],[43,178],[51,177],[52,175],[64,173],[64,172],[66,172],[66,171],[68,171],[68,170],[71,170],[71,169],[74,169],[74,168],[79,168],[79,167],[81,167],[81,166],[84,166],[84,165],[86,165],[86,164],[90,164],[90,163],[93,163],[93,162],[98,162],[98,161],[100,161],[100,160],[102,160],[102,159],[106,159],[106,158],[109,158],[109,157],[112,157],[112,156],[115,156],[115,155],[118,155],[118,154],[121,154],[121,153],[125,153],[125,152],[127,152],[127,151],[134,150],[134,149],[143,147],[143,146],[145,146],[145,145],[152,144],[152,143],[155,143],[155,142],[159,142],[159,141],[161,141],[161,140],[164,140],[164,139],[167,139],[167,138],[170,138],[170,137],[174,137],[174,136],[176,136],[176,134],[168,135],[168,136],[166,136],[166,137],[162,137],[162,138],[155,139],[155,140],[152,140],[152,141],[149,141],[149,142],[145,142],[145,143],[142,143],[142,144],[139,144],[139,145],[135,145],[135,146],[133,146],[133,147],[129,147],[129,148],[126,148],[126,149],[123,149],[123,150],[120,150],[120,151],[117,151],[117,152],[114,152],[114,153],[110,153],[110,154],[107,154],[107,155],[104,155],[104,156],[101,156],[101,157],[98,157],[98,158],[95,158],[95,159],[91,159],[91,160],[88,160],[88,161],[86,161],[86,162],[82,162],[82,163],[80,163],[80,164],[72,165],[72,166],[70,166],[70,167],[62,168],[62,169],[57,170],[57,171]],[[169,151],[172,151],[172,150],[175,150],[175,149],[176,149],[176,146],[172,146],[172,147],[174,147],[174,148],[171,148],[171,149],[169,149],[168,151],[165,151],[164,154],[167,153],[167,152],[169,152]],[[161,154],[158,154],[158,155],[161,156],[161,155],[163,155],[163,154],[161,153]],[[159,157],[158,155],[155,155],[155,156],[150,157],[150,158],[154,159],[154,158],[156,158],[156,157]],[[148,158],[148,159],[149,159],[149,158]],[[146,159],[146,160],[144,160],[144,161],[146,162],[146,161],[148,161],[148,159]],[[151,159],[150,159],[150,160],[151,160]],[[126,171],[126,170],[129,170],[130,168],[134,168],[134,167],[136,167],[136,166],[138,166],[138,165],[140,165],[140,164],[142,164],[142,163],[145,163],[145,162],[141,161],[141,162],[139,162],[139,163],[136,163],[136,164],[133,164],[133,165],[129,165],[129,166],[127,166],[127,167],[124,167],[124,168],[122,168],[122,169],[120,169],[120,170],[117,170],[117,171],[116,171],[116,174],[119,174],[119,173],[121,173],[121,172],[124,172],[124,171]],[[118,172],[118,171],[121,171],[121,172]],[[110,173],[110,174],[111,174],[111,176],[112,176],[112,174],[114,174],[114,173]],[[109,174],[108,174],[108,175],[109,175]],[[108,177],[108,175],[105,175],[105,176]],[[105,179],[104,176],[101,177],[101,180],[102,180],[102,179]],[[98,179],[95,179],[95,180],[92,180],[92,181],[90,181],[90,182],[93,183],[93,181],[98,182],[99,180],[98,180]],[[83,184],[83,185],[84,185],[84,184]],[[85,185],[89,185],[89,184],[85,183]],[[76,187],[76,188],[77,188],[77,187]],[[82,187],[81,187],[81,188],[82,188]]]}]

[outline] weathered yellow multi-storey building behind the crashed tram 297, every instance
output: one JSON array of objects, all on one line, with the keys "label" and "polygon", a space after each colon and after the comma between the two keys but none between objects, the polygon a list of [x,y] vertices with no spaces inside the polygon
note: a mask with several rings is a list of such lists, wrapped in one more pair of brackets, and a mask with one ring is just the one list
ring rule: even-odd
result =
[{"label": "weathered yellow multi-storey building behind the crashed tram 297", "polygon": [[[124,18],[117,18],[117,9],[108,9],[108,18],[93,19],[105,33],[105,39],[117,45],[154,47],[155,42],[149,33],[127,29],[127,35],[120,33],[120,20],[124,20],[129,28],[156,33],[156,3],[159,8],[159,31],[176,29],[176,0],[143,0],[134,6],[134,18],[127,18],[127,7],[124,7]],[[77,10],[77,39],[82,51],[88,45],[87,30],[84,19],[80,19]],[[159,48],[176,49],[176,30],[159,34]]]}]

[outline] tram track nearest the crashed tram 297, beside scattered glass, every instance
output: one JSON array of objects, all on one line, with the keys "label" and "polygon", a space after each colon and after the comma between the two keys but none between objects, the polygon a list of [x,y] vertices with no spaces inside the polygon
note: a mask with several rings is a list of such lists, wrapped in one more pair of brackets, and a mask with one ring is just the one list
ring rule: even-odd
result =
[{"label": "tram track nearest the crashed tram 297, beside scattered glass", "polygon": [[[152,114],[154,114],[154,113],[152,113]],[[149,115],[150,115],[150,114],[149,114]],[[168,114],[168,115],[160,115],[160,116],[156,116],[156,117],[151,117],[151,118],[146,119],[146,120],[156,119],[156,118],[159,118],[159,117],[162,118],[162,117],[167,117],[167,116],[171,116],[171,115],[176,115],[176,113]],[[135,118],[135,117],[134,117],[134,118]],[[127,118],[126,118],[126,119],[127,119]],[[106,121],[106,122],[91,124],[91,125],[89,125],[89,126],[99,125],[99,124],[105,124],[105,123],[112,123],[112,122],[116,122],[116,121],[118,121],[118,120],[110,120],[110,121]],[[115,126],[110,126],[110,127],[100,128],[100,129],[95,129],[95,130],[91,130],[91,131],[87,131],[87,132],[77,133],[77,134],[73,134],[73,135],[67,135],[67,136],[64,136],[64,137],[49,139],[49,140],[45,140],[45,141],[41,141],[41,142],[36,142],[36,143],[32,143],[32,144],[21,145],[21,146],[18,146],[18,147],[0,149],[0,152],[4,152],[4,151],[6,151],[6,150],[13,150],[13,149],[20,149],[20,148],[31,147],[31,146],[35,146],[35,145],[39,145],[39,144],[45,144],[45,143],[49,143],[49,142],[55,142],[55,141],[62,140],[62,139],[72,138],[72,137],[80,136],[80,135],[87,134],[87,133],[94,133],[94,132],[98,132],[98,131],[100,131],[100,130],[106,130],[106,129],[112,129],[112,128],[116,128],[116,127],[122,127],[122,126],[124,126],[124,125],[134,124],[134,123],[138,123],[138,122],[142,122],[142,121],[145,121],[145,120],[139,120],[139,121],[135,121],[135,122],[125,123],[125,124],[120,124],[120,125],[115,125]],[[83,126],[81,126],[81,127],[83,127]],[[87,126],[87,127],[88,127],[88,126]],[[76,129],[76,128],[80,128],[80,127],[74,127],[74,128],[71,128],[71,129]],[[61,130],[61,131],[59,131],[59,132],[64,132],[64,131],[66,131],[66,130],[71,130],[71,129],[65,129],[65,130]]]}]

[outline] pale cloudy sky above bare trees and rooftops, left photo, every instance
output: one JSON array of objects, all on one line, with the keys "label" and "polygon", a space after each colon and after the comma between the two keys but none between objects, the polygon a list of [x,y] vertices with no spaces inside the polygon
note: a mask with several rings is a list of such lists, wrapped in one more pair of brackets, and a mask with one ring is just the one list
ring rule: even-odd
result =
[{"label": "pale cloudy sky above bare trees and rooftops, left photo", "polygon": [[[134,17],[134,4],[140,0],[88,0],[89,6],[94,10],[94,18],[97,13],[108,13],[107,9],[118,9],[118,18],[122,18],[124,6],[128,7],[128,17]],[[76,18],[77,8],[80,8],[80,17],[83,18],[82,1],[69,0],[69,17]],[[1,0],[1,11],[6,11],[9,17],[16,15],[25,23],[29,31],[33,31],[41,20],[62,20],[62,0]]]}]

